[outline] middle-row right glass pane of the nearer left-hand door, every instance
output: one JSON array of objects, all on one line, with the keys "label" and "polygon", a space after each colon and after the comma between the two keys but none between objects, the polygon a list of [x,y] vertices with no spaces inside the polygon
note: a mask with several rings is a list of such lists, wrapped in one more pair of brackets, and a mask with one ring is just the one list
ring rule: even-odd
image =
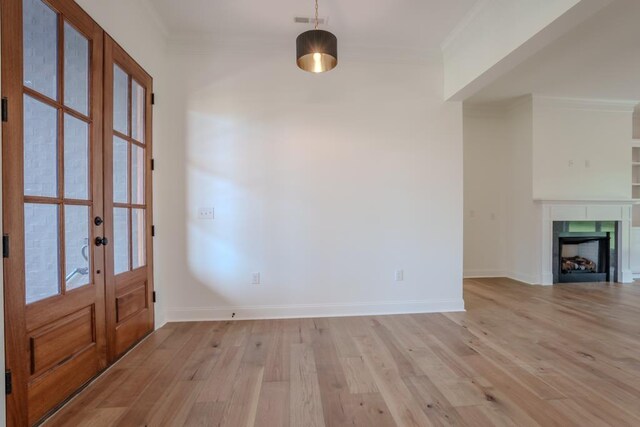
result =
[{"label": "middle-row right glass pane of the nearer left-hand door", "polygon": [[64,115],[64,196],[89,198],[89,124]]}]

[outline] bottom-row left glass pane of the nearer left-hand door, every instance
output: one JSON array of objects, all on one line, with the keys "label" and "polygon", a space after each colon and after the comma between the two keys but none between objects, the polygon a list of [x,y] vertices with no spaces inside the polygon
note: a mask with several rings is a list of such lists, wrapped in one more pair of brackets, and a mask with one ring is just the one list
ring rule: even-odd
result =
[{"label": "bottom-row left glass pane of the nearer left-hand door", "polygon": [[58,205],[25,203],[24,258],[27,304],[60,292]]}]

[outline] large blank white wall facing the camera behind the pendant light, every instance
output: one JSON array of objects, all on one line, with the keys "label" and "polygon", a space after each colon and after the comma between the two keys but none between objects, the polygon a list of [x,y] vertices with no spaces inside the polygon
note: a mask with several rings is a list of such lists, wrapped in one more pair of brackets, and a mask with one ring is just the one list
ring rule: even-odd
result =
[{"label": "large blank white wall facing the camera behind the pendant light", "polygon": [[189,50],[169,61],[170,320],[463,307],[462,111],[439,60],[311,75],[289,51]]}]

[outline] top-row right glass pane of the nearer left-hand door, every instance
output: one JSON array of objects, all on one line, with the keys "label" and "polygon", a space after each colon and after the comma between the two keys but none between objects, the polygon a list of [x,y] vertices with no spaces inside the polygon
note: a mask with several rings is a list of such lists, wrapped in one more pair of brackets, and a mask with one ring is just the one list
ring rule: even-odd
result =
[{"label": "top-row right glass pane of the nearer left-hand door", "polygon": [[64,23],[64,103],[89,115],[89,40]]}]

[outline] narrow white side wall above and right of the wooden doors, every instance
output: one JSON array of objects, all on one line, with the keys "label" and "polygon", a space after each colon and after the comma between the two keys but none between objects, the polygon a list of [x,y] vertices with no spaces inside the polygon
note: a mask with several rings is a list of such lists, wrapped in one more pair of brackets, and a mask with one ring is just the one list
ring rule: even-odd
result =
[{"label": "narrow white side wall above and right of the wooden doors", "polygon": [[[156,326],[165,322],[166,291],[169,282],[165,279],[171,269],[173,248],[165,227],[171,223],[174,200],[165,188],[173,186],[171,171],[171,141],[167,96],[170,87],[167,73],[165,30],[147,0],[77,0],[85,11],[113,39],[120,44],[152,77],[156,105],[153,108],[153,154],[158,167],[154,172],[154,223],[157,229],[154,241],[154,285],[158,293],[156,304]],[[162,236],[162,238],[161,238]]]}]

